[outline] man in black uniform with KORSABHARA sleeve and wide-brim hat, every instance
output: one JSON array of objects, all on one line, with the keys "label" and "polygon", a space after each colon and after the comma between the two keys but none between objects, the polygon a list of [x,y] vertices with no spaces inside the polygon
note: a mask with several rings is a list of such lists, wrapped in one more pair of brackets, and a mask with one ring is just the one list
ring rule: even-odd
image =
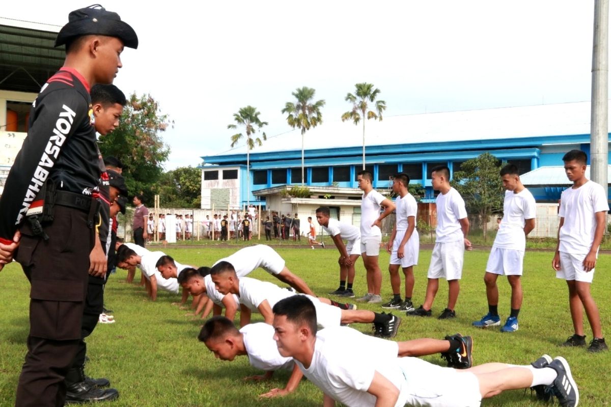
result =
[{"label": "man in black uniform with KORSABHARA sleeve and wide-brim hat", "polygon": [[101,7],[71,12],[68,21],[56,40],[66,46],[64,67],[32,104],[27,137],[5,183],[10,193],[0,200],[2,260],[20,229],[15,259],[31,283],[18,407],[65,402],[64,378],[81,340],[87,270],[106,268],[105,256],[89,258],[99,240],[94,217],[105,177],[89,90],[112,83],[123,47],[138,44],[136,32]]}]

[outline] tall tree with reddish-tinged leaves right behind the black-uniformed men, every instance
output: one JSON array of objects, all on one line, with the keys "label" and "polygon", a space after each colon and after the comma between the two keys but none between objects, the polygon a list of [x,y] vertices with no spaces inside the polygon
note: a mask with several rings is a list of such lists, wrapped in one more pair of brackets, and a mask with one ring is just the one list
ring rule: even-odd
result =
[{"label": "tall tree with reddish-tinged leaves right behind the black-uniformed men", "polygon": [[153,203],[155,185],[170,154],[161,138],[168,126],[174,126],[174,121],[161,113],[152,96],[133,93],[123,108],[119,127],[100,138],[102,155],[121,160],[128,190],[142,193],[147,205]]}]

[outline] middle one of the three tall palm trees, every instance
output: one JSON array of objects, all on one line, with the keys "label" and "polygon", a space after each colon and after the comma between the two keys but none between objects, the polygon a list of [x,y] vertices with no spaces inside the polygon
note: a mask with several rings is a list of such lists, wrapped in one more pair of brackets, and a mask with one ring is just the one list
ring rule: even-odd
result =
[{"label": "middle one of the three tall palm trees", "polygon": [[[282,113],[288,113],[287,122],[293,129],[301,128],[301,185],[304,184],[304,134],[310,128],[323,123],[323,115],[320,108],[324,106],[324,100],[320,99],[311,103],[316,91],[313,88],[297,88],[292,93],[297,103],[287,102]],[[292,181],[292,180],[291,180]]]}]

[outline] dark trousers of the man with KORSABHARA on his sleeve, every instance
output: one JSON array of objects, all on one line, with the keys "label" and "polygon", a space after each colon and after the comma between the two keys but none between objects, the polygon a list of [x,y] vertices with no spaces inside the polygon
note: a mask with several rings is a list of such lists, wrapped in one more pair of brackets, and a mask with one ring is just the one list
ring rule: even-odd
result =
[{"label": "dark trousers of the man with KORSABHARA on his sleeve", "polygon": [[87,214],[54,207],[43,225],[49,240],[34,236],[27,221],[15,259],[31,283],[30,332],[15,406],[63,406],[65,375],[81,340],[93,229]]}]

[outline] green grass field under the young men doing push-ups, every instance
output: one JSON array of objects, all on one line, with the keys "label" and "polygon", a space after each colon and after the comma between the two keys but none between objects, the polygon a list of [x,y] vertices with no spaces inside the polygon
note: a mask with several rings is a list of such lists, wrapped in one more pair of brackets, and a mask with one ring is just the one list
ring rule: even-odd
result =
[{"label": "green grass field under the young men doing push-ups", "polygon": [[[230,248],[166,249],[183,264],[211,265],[216,259],[233,253]],[[305,279],[318,295],[337,288],[337,251],[304,248],[279,248],[287,267]],[[416,286],[414,303],[423,300],[426,286],[426,269],[430,250],[420,252],[420,265],[415,267]],[[568,311],[566,283],[555,278],[551,270],[552,254],[528,252],[525,256],[524,304],[520,314],[520,330],[513,334],[501,334],[498,330],[477,330],[470,325],[487,311],[485,287],[482,281],[488,251],[472,251],[465,254],[465,267],[461,281],[461,294],[456,306],[455,320],[439,321],[436,318],[415,319],[404,317],[395,340],[418,337],[443,338],[446,334],[460,332],[474,337],[475,364],[503,361],[527,364],[543,353],[552,357],[565,356],[571,364],[573,375],[580,388],[580,405],[606,406],[611,404],[609,394],[609,366],[611,353],[590,355],[584,348],[560,348],[566,337],[573,333]],[[386,272],[388,255],[381,254],[382,295],[388,298],[390,284]],[[609,333],[611,326],[611,256],[602,254],[597,265],[593,295],[598,301],[603,330]],[[119,270],[106,286],[106,306],[114,310],[116,323],[98,325],[87,340],[87,372],[91,376],[104,376],[119,389],[120,398],[107,403],[120,406],[320,406],[321,392],[311,383],[302,381],[298,390],[285,398],[258,400],[257,395],[272,387],[284,386],[288,372],[277,373],[268,383],[245,383],[244,376],[258,374],[252,369],[246,356],[233,362],[214,359],[207,348],[197,341],[201,320],[192,320],[186,312],[172,306],[178,297],[162,293],[156,302],[148,301],[141,287],[124,283],[126,273]],[[277,281],[262,270],[251,276]],[[509,286],[499,279],[502,319],[507,317]],[[356,294],[365,287],[362,261],[357,265]],[[28,332],[29,284],[17,264],[11,264],[0,272],[0,406],[14,403],[15,387],[26,352]],[[442,281],[433,305],[434,315],[445,307],[447,284]],[[360,304],[359,304],[360,306]],[[364,306],[379,309],[375,306]],[[260,320],[254,315],[254,320]],[[353,325],[369,332],[370,326]],[[587,340],[591,331],[586,328]],[[428,356],[428,361],[441,364],[438,355]],[[414,372],[417,374],[417,372]],[[531,406],[540,405],[530,391],[511,391],[485,400],[483,406]]]}]

